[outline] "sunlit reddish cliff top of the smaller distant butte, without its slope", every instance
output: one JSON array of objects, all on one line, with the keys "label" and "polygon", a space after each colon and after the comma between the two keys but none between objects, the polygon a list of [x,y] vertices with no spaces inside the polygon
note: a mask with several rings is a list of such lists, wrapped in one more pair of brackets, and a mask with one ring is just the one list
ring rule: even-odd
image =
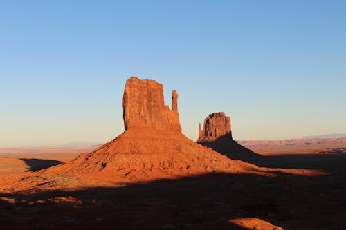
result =
[{"label": "sunlit reddish cliff top of the smaller distant butte, without its slope", "polygon": [[208,115],[208,117],[204,119],[203,130],[201,130],[201,124],[199,124],[199,140],[211,140],[224,136],[228,136],[232,139],[230,117],[226,117],[224,112]]}]

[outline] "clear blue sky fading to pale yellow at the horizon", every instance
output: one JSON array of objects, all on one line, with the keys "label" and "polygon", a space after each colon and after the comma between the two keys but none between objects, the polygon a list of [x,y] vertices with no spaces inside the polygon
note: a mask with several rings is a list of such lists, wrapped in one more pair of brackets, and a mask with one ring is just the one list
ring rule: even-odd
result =
[{"label": "clear blue sky fading to pale yellow at the horizon", "polygon": [[178,90],[183,133],[346,133],[346,1],[1,1],[0,146],[107,142],[132,75]]}]

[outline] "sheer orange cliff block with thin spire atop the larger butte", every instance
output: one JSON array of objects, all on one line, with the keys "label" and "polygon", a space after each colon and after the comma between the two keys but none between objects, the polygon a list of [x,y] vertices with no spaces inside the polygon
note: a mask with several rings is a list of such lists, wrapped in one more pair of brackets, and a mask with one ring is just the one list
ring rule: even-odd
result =
[{"label": "sheer orange cliff block with thin spire atop the larger butte", "polygon": [[173,91],[172,110],[165,106],[163,85],[154,80],[127,79],[122,105],[125,130],[129,128],[181,133],[178,94]]}]

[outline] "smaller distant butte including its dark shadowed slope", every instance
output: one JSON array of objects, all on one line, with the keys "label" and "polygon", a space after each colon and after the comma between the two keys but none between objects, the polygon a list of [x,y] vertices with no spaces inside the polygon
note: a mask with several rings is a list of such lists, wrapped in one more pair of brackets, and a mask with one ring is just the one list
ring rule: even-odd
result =
[{"label": "smaller distant butte including its dark shadowed slope", "polygon": [[256,161],[263,156],[238,144],[232,137],[230,117],[224,112],[211,113],[204,119],[203,129],[199,123],[197,143],[208,146],[232,160]]}]

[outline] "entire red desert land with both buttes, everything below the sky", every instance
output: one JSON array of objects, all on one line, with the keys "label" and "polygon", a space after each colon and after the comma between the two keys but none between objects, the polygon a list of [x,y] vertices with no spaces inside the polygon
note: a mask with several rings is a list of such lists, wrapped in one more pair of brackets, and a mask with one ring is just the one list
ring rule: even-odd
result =
[{"label": "entire red desert land with both buttes, everything below the sky", "polygon": [[217,112],[194,142],[176,90],[131,77],[122,102],[101,146],[1,149],[1,229],[345,229],[345,138],[236,142]]}]

